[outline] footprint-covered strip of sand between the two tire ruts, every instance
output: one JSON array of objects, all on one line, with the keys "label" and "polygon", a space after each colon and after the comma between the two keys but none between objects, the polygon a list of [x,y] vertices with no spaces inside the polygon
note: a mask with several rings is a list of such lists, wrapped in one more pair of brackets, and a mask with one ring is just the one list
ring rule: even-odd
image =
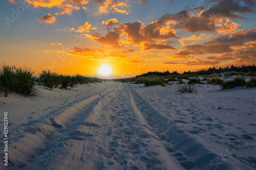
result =
[{"label": "footprint-covered strip of sand between the two tire ruts", "polygon": [[[125,84],[105,95],[46,169],[170,169],[177,167],[155,137]],[[87,126],[86,126],[87,125]],[[93,126],[89,126],[93,125]],[[96,126],[94,126],[96,125]],[[87,136],[84,136],[87,134]],[[164,160],[168,157],[168,161]],[[70,161],[72,160],[72,161]]]}]

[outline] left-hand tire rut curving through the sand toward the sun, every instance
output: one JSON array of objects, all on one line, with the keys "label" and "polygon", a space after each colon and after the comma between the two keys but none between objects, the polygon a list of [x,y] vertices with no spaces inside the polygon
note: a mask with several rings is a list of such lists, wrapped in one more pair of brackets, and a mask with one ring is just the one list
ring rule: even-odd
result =
[{"label": "left-hand tire rut curving through the sand toward the sun", "polygon": [[17,142],[9,144],[9,153],[15,153],[9,155],[9,169],[37,169],[40,166],[44,169],[61,149],[65,140],[79,139],[79,132],[74,131],[77,129],[75,127],[80,125],[79,121],[90,117],[94,106],[115,88],[114,84],[114,87],[69,107],[53,119],[35,120],[23,125],[24,128],[18,131],[25,135]]}]

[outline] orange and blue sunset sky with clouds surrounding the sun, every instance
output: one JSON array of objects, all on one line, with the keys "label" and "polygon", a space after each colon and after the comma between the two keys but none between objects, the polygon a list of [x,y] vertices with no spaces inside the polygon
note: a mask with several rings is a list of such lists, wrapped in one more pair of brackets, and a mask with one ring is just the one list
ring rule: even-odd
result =
[{"label": "orange and blue sunset sky with clouds surrounding the sun", "polygon": [[110,78],[256,63],[255,0],[0,1],[0,66]]}]

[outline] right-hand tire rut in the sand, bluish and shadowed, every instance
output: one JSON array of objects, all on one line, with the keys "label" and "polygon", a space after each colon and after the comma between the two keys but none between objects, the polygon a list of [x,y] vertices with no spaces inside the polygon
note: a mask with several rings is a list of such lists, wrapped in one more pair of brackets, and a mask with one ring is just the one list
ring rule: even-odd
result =
[{"label": "right-hand tire rut in the sand, bluish and shadowed", "polygon": [[[176,158],[185,169],[212,169],[216,166],[214,162],[219,158],[218,153],[210,151],[203,143],[190,136],[178,124],[185,122],[175,122],[168,119],[164,114],[155,110],[148,104],[132,87],[127,85],[148,125],[152,128],[169,155]],[[176,114],[176,113],[173,113]],[[218,164],[220,169],[234,169],[226,161]],[[232,167],[232,168],[230,168]]]}]

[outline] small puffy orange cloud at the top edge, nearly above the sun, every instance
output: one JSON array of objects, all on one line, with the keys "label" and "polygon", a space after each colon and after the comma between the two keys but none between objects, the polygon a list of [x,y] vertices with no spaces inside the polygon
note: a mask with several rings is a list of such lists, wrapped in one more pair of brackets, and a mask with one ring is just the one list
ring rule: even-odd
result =
[{"label": "small puffy orange cloud at the top edge, nearly above the sun", "polygon": [[106,0],[103,5],[99,7],[99,13],[124,13],[129,14],[127,11],[127,4],[123,2]]}]

